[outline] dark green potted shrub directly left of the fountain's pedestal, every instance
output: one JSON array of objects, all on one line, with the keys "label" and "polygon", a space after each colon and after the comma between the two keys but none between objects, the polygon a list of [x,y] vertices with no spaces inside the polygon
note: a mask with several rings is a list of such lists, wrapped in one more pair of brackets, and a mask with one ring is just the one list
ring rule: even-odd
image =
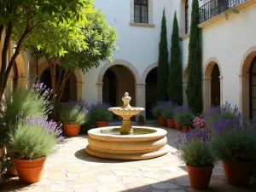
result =
[{"label": "dark green potted shrub directly left of the fountain's pedestal", "polygon": [[113,119],[113,113],[108,108],[92,108],[90,110],[90,119],[95,121],[109,121]]}]

